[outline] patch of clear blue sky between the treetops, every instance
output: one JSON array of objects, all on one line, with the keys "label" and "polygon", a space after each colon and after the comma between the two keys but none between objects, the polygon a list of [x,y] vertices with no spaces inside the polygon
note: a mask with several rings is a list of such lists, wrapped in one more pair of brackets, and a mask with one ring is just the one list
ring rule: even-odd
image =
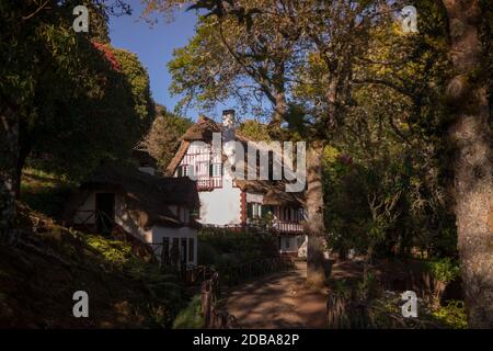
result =
[{"label": "patch of clear blue sky between the treetops", "polygon": [[[144,7],[140,1],[133,0],[131,15],[110,18],[110,37],[112,45],[125,48],[138,55],[147,68],[153,99],[173,110],[180,97],[170,97],[168,87],[171,76],[167,64],[172,58],[173,49],[186,45],[194,35],[195,12],[183,12],[175,15],[171,23],[159,21],[152,27],[140,19]],[[187,111],[190,117],[196,118],[196,111]]]}]

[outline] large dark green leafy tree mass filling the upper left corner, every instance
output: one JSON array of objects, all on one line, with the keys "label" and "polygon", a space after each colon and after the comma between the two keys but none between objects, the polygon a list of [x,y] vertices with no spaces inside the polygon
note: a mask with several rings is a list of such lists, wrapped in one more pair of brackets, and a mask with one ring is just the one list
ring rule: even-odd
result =
[{"label": "large dark green leafy tree mass filling the upper left corner", "polygon": [[[99,9],[96,26],[104,32],[104,8],[87,2]],[[8,33],[0,47],[7,78],[0,83],[0,112],[16,112],[19,165],[30,155],[43,156],[45,169],[76,180],[104,157],[127,156],[142,133],[142,111],[129,83],[136,79],[128,80],[126,61],[123,70],[115,67],[114,55],[91,34],[73,31],[77,4],[54,1],[36,11],[42,4],[30,0],[0,7],[0,26]],[[22,19],[26,14],[32,16]]]}]

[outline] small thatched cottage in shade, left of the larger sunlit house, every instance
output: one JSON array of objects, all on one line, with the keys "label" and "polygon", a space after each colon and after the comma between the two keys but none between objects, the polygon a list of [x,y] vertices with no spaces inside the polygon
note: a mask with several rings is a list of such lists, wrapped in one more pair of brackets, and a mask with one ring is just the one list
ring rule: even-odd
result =
[{"label": "small thatched cottage in shade, left of the larger sunlit house", "polygon": [[82,182],[68,218],[99,234],[124,230],[149,244],[159,260],[191,267],[197,263],[197,207],[194,181],[108,161]]}]

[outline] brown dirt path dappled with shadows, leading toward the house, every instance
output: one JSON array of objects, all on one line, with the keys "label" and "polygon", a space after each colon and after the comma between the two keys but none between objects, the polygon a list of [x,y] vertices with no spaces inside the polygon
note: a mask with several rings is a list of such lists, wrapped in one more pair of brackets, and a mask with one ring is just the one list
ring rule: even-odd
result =
[{"label": "brown dirt path dappled with shadows, leading toward the house", "polygon": [[305,286],[307,264],[228,292],[227,308],[242,328],[324,328],[326,292]]}]

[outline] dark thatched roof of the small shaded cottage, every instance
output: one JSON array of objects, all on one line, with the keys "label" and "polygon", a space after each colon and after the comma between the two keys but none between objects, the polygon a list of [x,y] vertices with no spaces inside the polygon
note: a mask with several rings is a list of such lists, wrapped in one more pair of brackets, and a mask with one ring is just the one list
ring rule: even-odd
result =
[{"label": "dark thatched roof of the small shaded cottage", "polygon": [[180,218],[168,206],[197,207],[199,200],[196,189],[196,183],[188,178],[153,177],[125,162],[107,161],[81,183],[80,194],[112,190],[125,196],[127,207],[137,214],[140,225],[181,227],[183,224]]}]

